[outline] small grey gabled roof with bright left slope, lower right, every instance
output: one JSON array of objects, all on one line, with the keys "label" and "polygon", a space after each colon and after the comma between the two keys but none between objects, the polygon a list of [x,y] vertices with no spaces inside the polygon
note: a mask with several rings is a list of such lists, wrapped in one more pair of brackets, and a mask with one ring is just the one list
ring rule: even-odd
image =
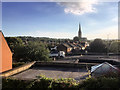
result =
[{"label": "small grey gabled roof with bright left slope, lower right", "polygon": [[118,72],[119,72],[118,68],[114,67],[113,65],[107,62],[91,67],[91,75],[95,77]]}]

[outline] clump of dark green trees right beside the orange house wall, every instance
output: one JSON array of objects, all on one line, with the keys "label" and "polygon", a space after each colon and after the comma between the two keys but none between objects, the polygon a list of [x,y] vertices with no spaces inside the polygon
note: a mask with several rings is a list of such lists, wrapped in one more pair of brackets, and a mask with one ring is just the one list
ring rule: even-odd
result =
[{"label": "clump of dark green trees right beside the orange house wall", "polygon": [[13,61],[49,61],[47,45],[37,41],[25,42],[18,37],[6,37],[7,43],[13,53]]}]

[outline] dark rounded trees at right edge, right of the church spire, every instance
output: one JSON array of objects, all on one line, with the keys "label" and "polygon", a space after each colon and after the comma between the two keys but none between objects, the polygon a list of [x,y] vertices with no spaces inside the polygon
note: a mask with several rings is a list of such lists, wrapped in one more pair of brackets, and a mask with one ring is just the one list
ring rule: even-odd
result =
[{"label": "dark rounded trees at right edge, right of the church spire", "polygon": [[120,54],[120,41],[95,39],[90,42],[89,52]]}]

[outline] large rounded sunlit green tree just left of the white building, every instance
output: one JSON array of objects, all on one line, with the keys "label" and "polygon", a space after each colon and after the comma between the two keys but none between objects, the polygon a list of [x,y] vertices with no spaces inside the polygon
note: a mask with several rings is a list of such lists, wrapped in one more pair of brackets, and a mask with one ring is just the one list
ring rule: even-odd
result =
[{"label": "large rounded sunlit green tree just left of the white building", "polygon": [[29,57],[30,60],[36,61],[47,61],[49,60],[49,50],[43,43],[38,42],[29,42],[28,44],[29,49]]}]

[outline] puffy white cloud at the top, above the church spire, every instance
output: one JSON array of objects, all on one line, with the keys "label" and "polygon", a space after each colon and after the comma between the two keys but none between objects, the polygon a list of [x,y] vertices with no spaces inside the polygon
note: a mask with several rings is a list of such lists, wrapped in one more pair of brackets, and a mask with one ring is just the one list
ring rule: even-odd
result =
[{"label": "puffy white cloud at the top, above the church spire", "polygon": [[97,12],[96,8],[93,5],[97,4],[97,0],[84,2],[59,2],[59,5],[64,7],[65,13],[72,13],[74,15],[83,15],[85,13],[95,13]]}]

